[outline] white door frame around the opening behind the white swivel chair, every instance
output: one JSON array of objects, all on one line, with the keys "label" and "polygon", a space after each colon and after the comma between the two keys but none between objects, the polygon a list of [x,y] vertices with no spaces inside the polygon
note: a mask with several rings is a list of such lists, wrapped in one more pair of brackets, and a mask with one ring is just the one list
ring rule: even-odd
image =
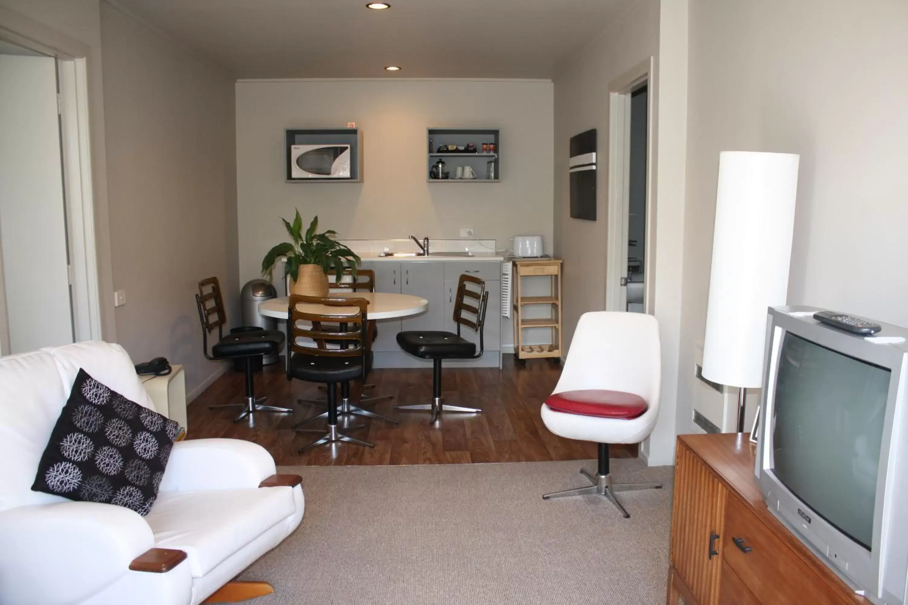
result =
[{"label": "white door frame around the opening behind the white swivel chair", "polygon": [[646,83],[646,242],[644,244],[643,309],[655,312],[656,200],[653,196],[653,57],[649,57],[608,84],[608,243],[606,263],[606,309],[627,310],[627,220],[630,171],[630,97]]}]

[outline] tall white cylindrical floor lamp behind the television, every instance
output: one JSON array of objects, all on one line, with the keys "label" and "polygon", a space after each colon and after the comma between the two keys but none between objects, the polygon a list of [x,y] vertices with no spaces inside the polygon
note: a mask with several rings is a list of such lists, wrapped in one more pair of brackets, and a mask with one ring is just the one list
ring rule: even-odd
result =
[{"label": "tall white cylindrical floor lamp behind the television", "polygon": [[766,307],[785,305],[788,293],[799,159],[719,154],[703,376],[740,388],[738,433],[744,433],[746,389],[763,386]]}]

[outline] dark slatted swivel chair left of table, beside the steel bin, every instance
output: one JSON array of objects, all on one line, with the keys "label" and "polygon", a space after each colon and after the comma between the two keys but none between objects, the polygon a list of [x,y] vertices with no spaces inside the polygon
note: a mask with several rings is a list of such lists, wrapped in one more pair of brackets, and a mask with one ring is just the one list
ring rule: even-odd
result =
[{"label": "dark slatted swivel chair left of table, beside the steel bin", "polygon": [[[209,409],[242,407],[242,412],[233,419],[233,422],[239,422],[246,416],[254,416],[256,412],[291,414],[293,410],[289,407],[263,405],[268,397],[255,398],[255,364],[253,360],[258,357],[261,366],[263,356],[280,354],[284,342],[283,333],[278,330],[240,328],[225,337],[223,327],[227,324],[227,314],[224,311],[221,284],[218,282],[218,278],[202,279],[199,282],[199,293],[195,295],[195,304],[199,308],[199,320],[202,322],[202,349],[205,357],[212,361],[242,360],[246,374],[245,403],[211,405]],[[209,353],[208,335],[215,327],[218,329],[218,342],[212,346],[212,352]]]}]

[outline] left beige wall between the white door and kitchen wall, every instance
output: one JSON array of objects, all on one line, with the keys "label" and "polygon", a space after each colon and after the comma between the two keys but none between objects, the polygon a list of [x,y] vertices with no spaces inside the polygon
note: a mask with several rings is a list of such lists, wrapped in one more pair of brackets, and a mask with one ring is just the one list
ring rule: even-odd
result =
[{"label": "left beige wall between the white door and kitchen wall", "polygon": [[192,394],[222,368],[202,356],[197,282],[220,278],[239,319],[233,80],[111,5],[101,25],[118,341],[183,364]]}]

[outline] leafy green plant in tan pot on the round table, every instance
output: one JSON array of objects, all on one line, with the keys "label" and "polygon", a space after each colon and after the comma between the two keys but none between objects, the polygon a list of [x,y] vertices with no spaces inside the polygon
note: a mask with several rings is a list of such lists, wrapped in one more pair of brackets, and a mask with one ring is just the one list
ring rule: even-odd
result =
[{"label": "leafy green plant in tan pot on the round table", "polygon": [[293,241],[278,244],[268,251],[262,259],[262,276],[271,279],[274,265],[278,259],[285,257],[287,262],[284,270],[286,275],[291,277],[291,294],[312,297],[323,297],[328,294],[328,272],[331,270],[337,276],[336,281],[341,281],[341,275],[346,267],[350,267],[353,276],[356,276],[356,268],[361,262],[360,257],[333,239],[337,231],[328,229],[316,233],[319,217],[312,219],[305,233],[302,232],[300,210],[296,211],[292,224],[286,219],[281,220]]}]

